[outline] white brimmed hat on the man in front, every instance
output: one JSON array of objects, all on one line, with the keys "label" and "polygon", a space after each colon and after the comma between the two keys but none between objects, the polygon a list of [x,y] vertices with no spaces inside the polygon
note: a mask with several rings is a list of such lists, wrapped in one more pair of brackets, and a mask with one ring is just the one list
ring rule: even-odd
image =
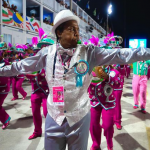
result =
[{"label": "white brimmed hat on the man in front", "polygon": [[55,30],[59,25],[69,20],[77,21],[78,25],[80,23],[79,17],[75,16],[70,10],[60,11],[54,19],[54,26],[52,28],[52,34],[55,34]]}]

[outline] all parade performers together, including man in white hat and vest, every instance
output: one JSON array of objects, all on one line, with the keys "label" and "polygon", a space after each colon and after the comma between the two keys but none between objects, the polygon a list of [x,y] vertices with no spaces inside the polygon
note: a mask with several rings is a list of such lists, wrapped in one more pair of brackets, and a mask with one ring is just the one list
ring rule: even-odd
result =
[{"label": "all parade performers together, including man in white hat and vest", "polygon": [[99,45],[99,39],[94,36],[81,44],[77,42],[77,16],[63,10],[55,19],[52,33],[56,33],[57,44],[47,38],[41,28],[40,41],[34,37],[32,45],[16,44],[13,47],[9,44],[7,47],[4,42],[0,44],[2,129],[6,129],[13,118],[2,107],[10,84],[12,101],[18,99],[18,92],[24,100],[27,93],[22,82],[26,76],[32,86],[31,108],[35,127],[29,140],[42,135],[42,104],[46,117],[45,150],[65,150],[66,144],[69,150],[86,150],[89,130],[93,141],[91,150],[101,150],[102,129],[108,150],[113,150],[114,124],[118,130],[122,129],[121,96],[124,78],[130,76],[131,65],[128,64],[133,63],[133,108],[140,107],[141,112],[146,113],[150,50],[122,49],[119,46],[121,38],[112,35],[103,38],[104,45]]}]

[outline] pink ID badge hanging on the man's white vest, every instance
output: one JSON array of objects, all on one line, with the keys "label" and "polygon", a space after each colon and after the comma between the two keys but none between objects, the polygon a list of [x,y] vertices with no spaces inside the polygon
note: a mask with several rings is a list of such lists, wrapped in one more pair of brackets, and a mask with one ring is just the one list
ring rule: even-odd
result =
[{"label": "pink ID badge hanging on the man's white vest", "polygon": [[64,87],[53,86],[53,103],[56,105],[64,105]]}]

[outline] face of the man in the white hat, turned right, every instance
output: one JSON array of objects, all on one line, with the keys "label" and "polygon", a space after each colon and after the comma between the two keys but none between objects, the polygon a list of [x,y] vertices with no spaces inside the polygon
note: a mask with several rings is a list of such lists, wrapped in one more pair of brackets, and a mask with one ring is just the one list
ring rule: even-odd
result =
[{"label": "face of the man in the white hat, turned right", "polygon": [[79,40],[79,26],[76,21],[67,21],[64,25],[63,31],[57,32],[60,44],[64,48],[76,48]]}]

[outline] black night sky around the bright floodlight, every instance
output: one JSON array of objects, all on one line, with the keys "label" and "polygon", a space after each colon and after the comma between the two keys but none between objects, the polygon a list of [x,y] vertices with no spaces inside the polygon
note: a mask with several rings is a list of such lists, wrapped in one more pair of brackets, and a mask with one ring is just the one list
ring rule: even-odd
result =
[{"label": "black night sky around the bright floodlight", "polygon": [[[90,10],[86,8],[90,1]],[[150,0],[110,0],[113,12],[109,16],[109,25],[115,35],[124,38],[124,47],[129,46],[129,38],[146,38],[150,47]],[[80,0],[77,4],[102,27],[106,23],[107,0]],[[93,16],[97,8],[99,20]]]}]

